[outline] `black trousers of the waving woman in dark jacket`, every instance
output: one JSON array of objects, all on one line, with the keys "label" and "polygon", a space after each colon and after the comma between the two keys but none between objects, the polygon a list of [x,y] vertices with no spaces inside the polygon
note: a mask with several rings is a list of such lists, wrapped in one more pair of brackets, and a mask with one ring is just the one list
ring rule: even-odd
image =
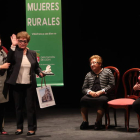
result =
[{"label": "black trousers of the waving woman in dark jacket", "polygon": [[28,130],[37,129],[36,121],[36,89],[31,84],[16,84],[12,86],[15,101],[17,129],[23,129],[23,109],[26,103]]}]

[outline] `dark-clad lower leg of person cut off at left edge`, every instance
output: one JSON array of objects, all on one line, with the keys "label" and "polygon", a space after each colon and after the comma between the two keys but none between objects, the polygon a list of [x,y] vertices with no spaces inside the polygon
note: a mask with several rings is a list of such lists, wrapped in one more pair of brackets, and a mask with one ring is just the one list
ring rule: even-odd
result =
[{"label": "dark-clad lower leg of person cut off at left edge", "polygon": [[0,130],[2,129],[2,123],[5,115],[6,103],[0,103]]}]

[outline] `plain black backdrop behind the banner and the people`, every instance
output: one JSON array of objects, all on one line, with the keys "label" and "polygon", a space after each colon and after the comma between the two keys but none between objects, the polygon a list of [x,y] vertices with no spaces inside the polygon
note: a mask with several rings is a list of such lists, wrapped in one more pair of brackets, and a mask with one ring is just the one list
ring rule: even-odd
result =
[{"label": "plain black backdrop behind the banner and the people", "polygon": [[[0,34],[9,49],[10,36],[26,30],[25,0],[0,1]],[[81,87],[90,70],[88,59],[101,55],[104,66],[122,74],[139,67],[140,8],[137,3],[62,0],[64,86],[52,87],[57,106],[79,106]],[[46,77],[47,80],[47,77]],[[123,97],[120,81],[118,97]],[[10,104],[13,105],[12,95]]]}]

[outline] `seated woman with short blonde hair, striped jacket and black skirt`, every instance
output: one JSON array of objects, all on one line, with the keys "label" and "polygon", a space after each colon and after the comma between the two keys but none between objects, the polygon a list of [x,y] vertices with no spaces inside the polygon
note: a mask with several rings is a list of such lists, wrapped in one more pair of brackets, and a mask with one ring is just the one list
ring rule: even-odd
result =
[{"label": "seated woman with short blonde hair, striped jacket and black skirt", "polygon": [[88,128],[88,108],[97,108],[97,118],[95,130],[101,128],[101,120],[105,107],[108,102],[108,94],[115,85],[115,79],[110,69],[102,68],[102,58],[99,55],[93,55],[89,58],[91,71],[87,73],[81,98],[81,114],[83,122],[80,129]]}]

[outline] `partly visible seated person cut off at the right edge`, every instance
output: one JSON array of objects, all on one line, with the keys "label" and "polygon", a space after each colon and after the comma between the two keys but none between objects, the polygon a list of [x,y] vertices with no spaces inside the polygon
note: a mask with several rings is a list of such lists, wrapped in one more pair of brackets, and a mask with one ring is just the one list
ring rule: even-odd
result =
[{"label": "partly visible seated person cut off at the right edge", "polygon": [[[138,82],[134,85],[133,89],[135,91],[140,90],[140,84]],[[140,116],[140,98],[136,99],[132,105],[134,111]]]}]

